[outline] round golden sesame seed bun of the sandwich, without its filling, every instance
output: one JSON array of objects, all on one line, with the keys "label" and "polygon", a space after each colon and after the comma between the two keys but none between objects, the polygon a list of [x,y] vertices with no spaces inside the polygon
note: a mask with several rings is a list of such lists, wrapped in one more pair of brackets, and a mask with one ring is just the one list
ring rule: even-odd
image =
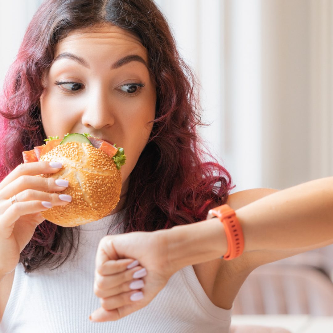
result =
[{"label": "round golden sesame seed bun of the sandwich, without its filling", "polygon": [[38,175],[67,179],[61,192],[72,201],[66,206],[53,206],[41,214],[63,227],[73,227],[107,216],[120,199],[121,173],[110,155],[88,143],[68,142],[58,145],[40,157],[40,161],[61,162],[56,173]]}]

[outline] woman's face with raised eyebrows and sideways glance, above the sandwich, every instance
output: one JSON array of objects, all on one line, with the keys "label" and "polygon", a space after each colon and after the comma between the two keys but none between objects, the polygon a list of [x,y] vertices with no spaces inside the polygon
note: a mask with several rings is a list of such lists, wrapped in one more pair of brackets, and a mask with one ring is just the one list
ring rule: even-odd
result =
[{"label": "woman's face with raised eyebrows and sideways glance, above the sandwich", "polygon": [[[140,40],[111,24],[76,30],[58,43],[40,98],[46,135],[90,133],[127,157],[122,195],[155,119],[156,90]],[[147,64],[147,65],[146,65]]]}]

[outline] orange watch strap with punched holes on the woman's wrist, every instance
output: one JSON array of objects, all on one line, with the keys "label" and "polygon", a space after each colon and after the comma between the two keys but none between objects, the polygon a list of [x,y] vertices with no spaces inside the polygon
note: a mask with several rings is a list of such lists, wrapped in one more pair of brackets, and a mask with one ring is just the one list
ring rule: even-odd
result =
[{"label": "orange watch strap with punched holes on the woman's wrist", "polygon": [[242,227],[238,221],[235,211],[227,204],[210,209],[207,218],[216,216],[224,225],[228,248],[223,258],[231,260],[239,257],[244,250],[244,236]]}]

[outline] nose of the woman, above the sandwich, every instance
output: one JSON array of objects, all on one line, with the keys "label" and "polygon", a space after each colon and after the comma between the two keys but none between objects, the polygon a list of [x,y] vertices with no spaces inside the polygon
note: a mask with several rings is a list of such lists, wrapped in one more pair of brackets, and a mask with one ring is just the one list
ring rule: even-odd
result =
[{"label": "nose of the woman, above the sandwich", "polygon": [[114,123],[114,110],[108,91],[100,88],[88,94],[82,114],[82,124],[87,128],[93,127],[98,130],[105,126],[112,126]]}]

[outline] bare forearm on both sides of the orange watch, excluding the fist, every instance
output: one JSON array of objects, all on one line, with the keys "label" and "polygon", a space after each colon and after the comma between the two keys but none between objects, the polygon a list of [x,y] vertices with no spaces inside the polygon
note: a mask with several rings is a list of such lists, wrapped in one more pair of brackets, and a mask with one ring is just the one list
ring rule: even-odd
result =
[{"label": "bare forearm on both sides of the orange watch, excluding the fist", "polygon": [[[245,251],[304,249],[332,239],[333,177],[296,185],[235,211]],[[168,230],[169,260],[179,269],[219,258],[227,250],[223,224],[210,219]]]}]

